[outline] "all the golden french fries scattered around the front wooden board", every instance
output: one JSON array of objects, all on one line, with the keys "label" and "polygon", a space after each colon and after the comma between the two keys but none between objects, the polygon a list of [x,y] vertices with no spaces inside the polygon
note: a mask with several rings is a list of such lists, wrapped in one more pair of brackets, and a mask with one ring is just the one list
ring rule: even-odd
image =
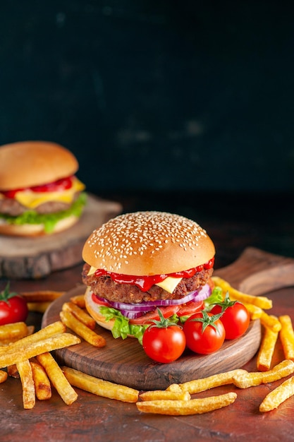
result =
[{"label": "all the golden french fries scattered around the front wooden board", "polygon": [[[257,371],[234,369],[185,383],[172,383],[166,390],[140,392],[67,366],[60,367],[51,355],[52,350],[75,345],[81,342],[81,338],[95,347],[106,345],[104,338],[94,331],[96,324],[85,310],[85,299],[81,294],[63,303],[60,321],[47,325],[36,333],[25,323],[0,326],[0,383],[6,381],[8,376],[19,377],[23,386],[25,408],[34,407],[35,398],[49,399],[51,386],[54,386],[67,405],[77,400],[78,394],[73,389],[76,387],[104,398],[134,402],[140,412],[188,415],[211,412],[231,405],[238,396],[238,388],[260,386],[287,378],[271,390],[259,405],[260,412],[274,410],[294,395],[294,331],[291,318],[288,315],[276,317],[266,313],[265,310],[272,307],[272,301],[267,297],[240,292],[220,277],[212,277],[212,280],[214,285],[221,287],[223,294],[228,292],[232,300],[247,306],[252,321],[258,318],[262,324]],[[35,304],[40,303],[40,299],[36,298],[37,292],[26,294],[26,298],[31,303],[30,309],[42,311],[60,294],[61,292],[48,292],[45,300],[42,296],[41,304],[44,305],[36,309]],[[67,333],[67,329],[74,334]],[[281,340],[284,359],[272,366],[278,338]],[[197,393],[230,384],[234,391],[209,395],[206,398],[192,397]]]}]

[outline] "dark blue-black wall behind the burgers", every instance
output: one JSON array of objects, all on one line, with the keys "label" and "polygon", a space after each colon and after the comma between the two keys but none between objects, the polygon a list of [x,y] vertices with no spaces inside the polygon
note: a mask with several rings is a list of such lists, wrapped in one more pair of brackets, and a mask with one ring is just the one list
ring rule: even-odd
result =
[{"label": "dark blue-black wall behind the burgers", "polygon": [[94,193],[293,193],[292,1],[11,0],[0,144],[56,141]]}]

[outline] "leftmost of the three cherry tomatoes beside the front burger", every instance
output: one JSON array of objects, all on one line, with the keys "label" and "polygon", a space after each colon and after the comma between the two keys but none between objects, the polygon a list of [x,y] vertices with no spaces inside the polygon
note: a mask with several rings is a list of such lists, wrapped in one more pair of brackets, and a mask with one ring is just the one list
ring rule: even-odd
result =
[{"label": "leftmost of the three cherry tomatoes beside the front burger", "polygon": [[149,325],[142,340],[147,356],[157,362],[176,361],[185,350],[185,333],[178,325]]}]

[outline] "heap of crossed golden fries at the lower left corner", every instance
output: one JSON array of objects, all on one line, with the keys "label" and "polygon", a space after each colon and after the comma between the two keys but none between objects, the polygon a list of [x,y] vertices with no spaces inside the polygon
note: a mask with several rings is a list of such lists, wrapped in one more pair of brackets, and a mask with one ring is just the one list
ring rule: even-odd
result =
[{"label": "heap of crossed golden fries at the lower left corner", "polygon": [[[25,335],[23,330],[26,330]],[[1,325],[0,336],[3,338],[0,340],[0,382],[6,381],[8,376],[20,378],[24,408],[35,407],[36,397],[39,400],[51,398],[51,385],[67,405],[78,398],[51,355],[53,350],[80,343],[80,338],[66,332],[61,321],[35,333],[25,323]]]}]

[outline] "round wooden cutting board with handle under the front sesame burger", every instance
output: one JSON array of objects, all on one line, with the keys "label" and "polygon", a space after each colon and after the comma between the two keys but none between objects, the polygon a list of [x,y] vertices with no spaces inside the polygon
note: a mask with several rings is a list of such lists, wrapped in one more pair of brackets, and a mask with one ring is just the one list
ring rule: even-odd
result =
[{"label": "round wooden cutting board with handle under the front sesame burger", "polygon": [[[223,277],[233,287],[251,294],[264,294],[274,289],[294,286],[294,259],[245,249],[235,263],[214,275]],[[42,326],[59,320],[62,304],[71,296],[85,291],[81,285],[56,299],[44,313]],[[106,346],[96,349],[87,342],[55,352],[59,364],[71,366],[106,381],[121,383],[138,390],[165,389],[171,383],[183,383],[237,369],[255,355],[261,340],[259,321],[251,321],[245,335],[238,340],[225,341],[218,352],[200,356],[186,350],[176,362],[159,364],[146,356],[133,338],[112,338],[111,332],[99,325],[97,333],[106,339]]]}]

